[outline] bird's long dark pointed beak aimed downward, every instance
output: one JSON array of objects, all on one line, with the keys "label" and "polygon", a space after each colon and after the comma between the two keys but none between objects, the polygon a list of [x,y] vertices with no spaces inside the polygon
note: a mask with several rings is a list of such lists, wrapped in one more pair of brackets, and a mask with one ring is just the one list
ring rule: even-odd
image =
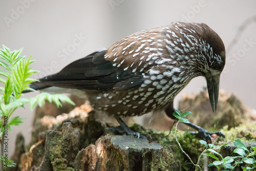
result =
[{"label": "bird's long dark pointed beak aimed downward", "polygon": [[216,111],[217,109],[217,103],[218,103],[218,97],[219,97],[219,84],[220,84],[220,74],[217,74],[215,76],[206,76],[207,81],[207,89],[210,99],[210,105],[212,111]]}]

